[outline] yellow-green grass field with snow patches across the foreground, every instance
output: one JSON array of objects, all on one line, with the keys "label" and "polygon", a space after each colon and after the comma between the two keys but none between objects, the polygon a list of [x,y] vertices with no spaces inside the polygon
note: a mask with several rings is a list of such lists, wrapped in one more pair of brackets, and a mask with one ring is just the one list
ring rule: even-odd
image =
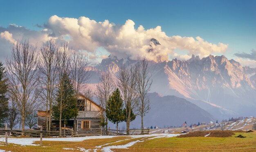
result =
[{"label": "yellow-green grass field with snow patches across the foreground", "polygon": [[[235,138],[239,134],[246,138]],[[117,152],[198,152],[198,151],[218,151],[218,152],[255,152],[256,151],[256,132],[235,132],[232,137],[161,137],[150,139],[152,137],[113,137],[108,139],[90,139],[81,142],[68,141],[43,141],[43,147],[40,146],[21,146],[9,144],[4,147],[0,142],[0,150],[11,152],[68,152],[68,151],[98,151],[109,150]],[[127,145],[135,142],[134,145],[126,149],[116,149],[115,146]],[[35,144],[39,144],[36,141]],[[107,144],[107,145],[106,145]],[[99,146],[101,145],[101,146]],[[70,149],[63,149],[70,148]],[[107,148],[107,149],[106,149]],[[120,148],[120,147],[119,147]]]}]

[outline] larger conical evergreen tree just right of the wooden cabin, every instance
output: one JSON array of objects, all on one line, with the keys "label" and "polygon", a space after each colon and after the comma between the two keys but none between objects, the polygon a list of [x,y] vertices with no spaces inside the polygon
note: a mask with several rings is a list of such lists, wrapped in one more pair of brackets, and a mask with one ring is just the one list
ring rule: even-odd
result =
[{"label": "larger conical evergreen tree just right of the wooden cabin", "polygon": [[106,116],[109,121],[112,123],[117,123],[117,130],[118,130],[118,123],[124,121],[126,119],[124,108],[123,108],[123,100],[120,95],[120,91],[117,88],[112,95],[110,95],[107,105],[106,105]]}]

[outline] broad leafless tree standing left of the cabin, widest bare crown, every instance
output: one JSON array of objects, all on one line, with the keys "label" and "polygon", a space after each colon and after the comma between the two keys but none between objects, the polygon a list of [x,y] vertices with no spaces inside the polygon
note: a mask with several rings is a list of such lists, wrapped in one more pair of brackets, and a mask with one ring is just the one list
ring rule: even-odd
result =
[{"label": "broad leafless tree standing left of the cabin, widest bare crown", "polygon": [[6,59],[9,78],[9,93],[16,101],[21,115],[22,130],[25,118],[37,106],[38,58],[36,46],[28,40],[16,42],[11,48],[11,57]]}]

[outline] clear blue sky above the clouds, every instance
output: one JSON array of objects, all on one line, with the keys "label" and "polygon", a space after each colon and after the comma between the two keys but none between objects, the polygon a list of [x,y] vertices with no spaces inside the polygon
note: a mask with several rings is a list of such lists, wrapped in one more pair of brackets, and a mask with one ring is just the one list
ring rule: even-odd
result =
[{"label": "clear blue sky above the clouds", "polygon": [[[76,18],[81,16],[97,22],[109,20],[124,25],[126,20],[135,22],[135,29],[161,26],[168,36],[200,36],[205,41],[228,44],[225,55],[250,53],[256,49],[255,0],[1,0],[0,26],[9,24],[40,31],[53,16]],[[13,34],[14,35],[14,34]]]}]

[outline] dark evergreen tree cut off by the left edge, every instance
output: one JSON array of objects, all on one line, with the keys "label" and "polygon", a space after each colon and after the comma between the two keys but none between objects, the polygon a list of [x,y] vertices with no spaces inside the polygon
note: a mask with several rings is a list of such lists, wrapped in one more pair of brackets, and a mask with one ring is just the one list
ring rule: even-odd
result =
[{"label": "dark evergreen tree cut off by the left edge", "polygon": [[4,119],[8,115],[7,78],[2,62],[0,62],[0,127],[3,127]]}]

